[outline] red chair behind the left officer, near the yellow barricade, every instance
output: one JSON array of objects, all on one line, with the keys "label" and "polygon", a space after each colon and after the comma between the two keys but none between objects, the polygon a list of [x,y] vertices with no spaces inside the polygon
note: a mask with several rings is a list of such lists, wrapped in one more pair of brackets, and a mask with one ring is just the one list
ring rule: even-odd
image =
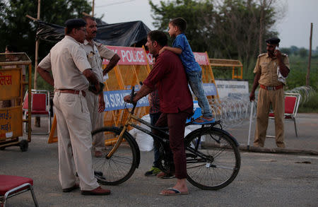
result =
[{"label": "red chair behind the left officer, near the yellow barricade", "polygon": [[[49,91],[47,90],[31,90],[31,117],[48,117],[49,118],[49,131],[51,130],[52,119],[51,112],[49,112]],[[24,118],[28,119],[28,91],[25,93],[23,101]],[[26,129],[27,127],[25,127]],[[38,134],[38,133],[37,133]]]}]

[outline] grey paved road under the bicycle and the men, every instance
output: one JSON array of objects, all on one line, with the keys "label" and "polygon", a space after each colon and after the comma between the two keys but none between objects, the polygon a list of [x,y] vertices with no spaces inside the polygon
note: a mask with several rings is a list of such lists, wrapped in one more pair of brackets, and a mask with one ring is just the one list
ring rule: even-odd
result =
[{"label": "grey paved road under the bicycle and the men", "polygon": [[[318,114],[300,114],[295,138],[293,124],[286,127],[288,147],[318,150]],[[288,125],[288,124],[287,124]],[[47,129],[43,126],[44,129]],[[271,129],[269,129],[271,130]],[[246,143],[248,123],[228,129],[240,143]],[[0,174],[32,177],[40,206],[317,206],[318,156],[242,152],[239,175],[218,191],[203,191],[189,184],[187,196],[160,196],[175,179],[144,177],[151,167],[153,151],[141,152],[141,165],[119,186],[109,187],[110,196],[82,196],[79,190],[62,193],[58,182],[57,143],[47,136],[33,136],[27,152],[18,147],[0,151]],[[266,147],[275,147],[266,140]],[[30,193],[8,200],[8,206],[33,206]]]}]

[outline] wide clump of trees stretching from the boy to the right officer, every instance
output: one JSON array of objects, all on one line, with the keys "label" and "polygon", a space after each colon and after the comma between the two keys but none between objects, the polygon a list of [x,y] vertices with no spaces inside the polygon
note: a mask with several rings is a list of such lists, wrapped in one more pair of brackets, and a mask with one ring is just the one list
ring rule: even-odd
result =
[{"label": "wide clump of trees stretching from the boy to the right officer", "polygon": [[[273,24],[278,13],[275,0],[175,0],[149,1],[155,25],[167,30],[169,20],[181,16],[187,20],[187,38],[195,52],[207,51],[209,57],[240,59],[245,74],[254,68],[259,42],[276,36]],[[262,21],[261,21],[261,16]],[[262,30],[260,35],[260,22]],[[261,37],[261,41],[259,38]],[[263,45],[265,50],[265,44]],[[249,69],[249,70],[248,70]]]}]

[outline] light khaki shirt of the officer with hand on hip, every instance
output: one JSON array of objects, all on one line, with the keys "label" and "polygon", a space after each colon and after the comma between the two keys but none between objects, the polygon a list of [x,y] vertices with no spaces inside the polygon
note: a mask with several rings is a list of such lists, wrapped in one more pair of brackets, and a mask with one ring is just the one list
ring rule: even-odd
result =
[{"label": "light khaki shirt of the officer with hand on hip", "polygon": [[47,57],[39,66],[49,71],[52,69],[55,89],[88,89],[88,80],[83,71],[90,69],[83,45],[66,35],[52,47]]}]

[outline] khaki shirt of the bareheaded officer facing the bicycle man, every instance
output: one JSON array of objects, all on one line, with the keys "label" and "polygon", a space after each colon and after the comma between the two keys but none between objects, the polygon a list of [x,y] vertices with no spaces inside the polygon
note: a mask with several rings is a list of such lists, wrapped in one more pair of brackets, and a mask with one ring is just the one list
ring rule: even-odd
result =
[{"label": "khaki shirt of the bareheaded officer facing the bicycle man", "polygon": [[107,49],[105,45],[94,42],[91,44],[87,40],[84,41],[84,49],[90,66],[92,66],[93,72],[98,77],[98,81],[104,82],[102,78],[102,59],[112,59],[114,57],[114,52]]}]

